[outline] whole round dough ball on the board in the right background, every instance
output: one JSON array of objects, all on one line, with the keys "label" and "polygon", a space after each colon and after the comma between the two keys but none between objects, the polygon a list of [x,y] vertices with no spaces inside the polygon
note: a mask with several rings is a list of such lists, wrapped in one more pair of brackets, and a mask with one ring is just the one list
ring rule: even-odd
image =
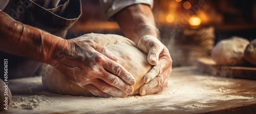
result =
[{"label": "whole round dough ball on the board in the right background", "polygon": [[211,58],[217,65],[244,65],[244,50],[248,44],[249,41],[242,37],[223,39],[212,49]]}]

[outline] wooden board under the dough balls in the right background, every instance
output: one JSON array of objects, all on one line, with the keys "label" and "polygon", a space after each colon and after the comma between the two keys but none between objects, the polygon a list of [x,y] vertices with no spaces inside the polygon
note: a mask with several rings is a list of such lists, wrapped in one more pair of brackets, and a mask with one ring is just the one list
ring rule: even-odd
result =
[{"label": "wooden board under the dough balls in the right background", "polygon": [[256,79],[256,67],[216,65],[210,58],[201,58],[197,63],[198,70],[221,77]]}]

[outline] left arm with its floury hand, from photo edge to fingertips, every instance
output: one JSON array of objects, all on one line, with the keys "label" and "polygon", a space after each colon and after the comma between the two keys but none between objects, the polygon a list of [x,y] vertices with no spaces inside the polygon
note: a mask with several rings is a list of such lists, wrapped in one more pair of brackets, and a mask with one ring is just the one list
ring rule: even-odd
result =
[{"label": "left arm with its floury hand, from photo edge to fingertips", "polygon": [[94,41],[64,40],[15,21],[2,11],[0,26],[0,51],[50,64],[96,96],[125,97],[133,93],[132,74]]}]

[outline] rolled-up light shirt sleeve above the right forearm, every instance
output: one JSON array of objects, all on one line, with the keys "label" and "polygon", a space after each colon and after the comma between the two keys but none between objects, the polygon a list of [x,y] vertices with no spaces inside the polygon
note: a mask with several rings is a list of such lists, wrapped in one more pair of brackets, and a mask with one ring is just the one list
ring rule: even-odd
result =
[{"label": "rolled-up light shirt sleeve above the right forearm", "polygon": [[101,13],[106,20],[113,21],[112,16],[125,7],[134,4],[146,4],[153,8],[153,0],[100,0]]}]

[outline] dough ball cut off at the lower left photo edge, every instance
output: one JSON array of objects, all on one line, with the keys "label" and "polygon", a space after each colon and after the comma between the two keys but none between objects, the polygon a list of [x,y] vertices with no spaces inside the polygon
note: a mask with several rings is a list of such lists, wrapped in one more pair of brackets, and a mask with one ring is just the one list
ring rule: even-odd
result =
[{"label": "dough ball cut off at the lower left photo edge", "polygon": [[[8,97],[8,101],[7,101],[7,103],[8,103],[8,107],[9,107],[9,104],[10,104],[10,102],[11,102],[11,100],[12,100],[12,94],[11,94],[11,91],[10,91],[10,89],[9,88],[7,88],[7,93],[5,93],[6,92],[6,88],[4,87],[5,86],[5,83],[4,83],[4,81],[2,80],[2,79],[0,79],[0,100],[1,100],[1,102],[0,102],[0,110],[3,110],[4,108],[5,108],[5,105],[4,104],[6,104],[6,99],[5,99],[5,97]],[[7,96],[6,96],[7,95]]]}]

